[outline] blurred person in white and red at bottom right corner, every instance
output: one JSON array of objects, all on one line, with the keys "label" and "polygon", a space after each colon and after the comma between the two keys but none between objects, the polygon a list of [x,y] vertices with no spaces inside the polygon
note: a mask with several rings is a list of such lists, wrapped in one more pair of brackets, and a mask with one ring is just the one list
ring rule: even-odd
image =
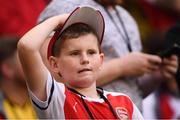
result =
[{"label": "blurred person in white and red at bottom right corner", "polygon": [[175,79],[163,81],[143,101],[145,119],[180,119],[180,94]]}]

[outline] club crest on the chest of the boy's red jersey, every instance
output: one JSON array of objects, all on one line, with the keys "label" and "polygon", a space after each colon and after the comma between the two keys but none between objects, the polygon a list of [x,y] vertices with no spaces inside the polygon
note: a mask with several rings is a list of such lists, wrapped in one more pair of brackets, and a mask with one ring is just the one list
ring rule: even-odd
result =
[{"label": "club crest on the chest of the boy's red jersey", "polygon": [[120,120],[128,120],[128,112],[127,109],[124,107],[116,107],[116,114]]}]

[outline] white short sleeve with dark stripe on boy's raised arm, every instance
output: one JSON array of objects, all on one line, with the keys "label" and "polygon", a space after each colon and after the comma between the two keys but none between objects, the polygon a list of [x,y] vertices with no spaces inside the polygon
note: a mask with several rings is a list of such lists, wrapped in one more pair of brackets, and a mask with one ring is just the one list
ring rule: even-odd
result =
[{"label": "white short sleeve with dark stripe on boy's raised arm", "polygon": [[64,119],[65,87],[48,73],[46,83],[47,99],[41,101],[28,89],[33,107],[40,119]]}]

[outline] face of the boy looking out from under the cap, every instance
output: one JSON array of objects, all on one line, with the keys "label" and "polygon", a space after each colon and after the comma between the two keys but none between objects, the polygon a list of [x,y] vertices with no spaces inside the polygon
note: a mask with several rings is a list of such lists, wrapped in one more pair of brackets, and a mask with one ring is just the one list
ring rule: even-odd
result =
[{"label": "face of the boy looking out from under the cap", "polygon": [[66,83],[72,87],[88,87],[94,83],[103,62],[97,38],[87,34],[62,44],[57,67]]}]

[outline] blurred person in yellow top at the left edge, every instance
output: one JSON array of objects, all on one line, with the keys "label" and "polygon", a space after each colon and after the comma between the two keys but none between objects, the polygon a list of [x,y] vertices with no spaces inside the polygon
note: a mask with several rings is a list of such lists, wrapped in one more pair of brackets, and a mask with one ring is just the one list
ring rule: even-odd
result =
[{"label": "blurred person in yellow top at the left edge", "polygon": [[0,38],[0,112],[3,119],[35,119],[17,55],[18,39]]}]

